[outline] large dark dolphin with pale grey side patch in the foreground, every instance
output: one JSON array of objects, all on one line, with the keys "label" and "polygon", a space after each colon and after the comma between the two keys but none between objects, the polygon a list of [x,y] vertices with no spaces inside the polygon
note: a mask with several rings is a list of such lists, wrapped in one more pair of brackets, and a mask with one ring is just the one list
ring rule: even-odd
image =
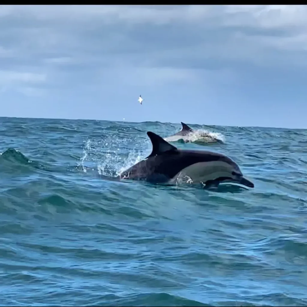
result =
[{"label": "large dark dolphin with pale grey side patch in the foreground", "polygon": [[152,152],[144,160],[123,171],[120,179],[144,180],[152,183],[174,184],[178,179],[201,183],[206,187],[223,182],[234,182],[254,188],[243,177],[239,166],[222,153],[205,150],[181,150],[161,136],[148,131]]}]

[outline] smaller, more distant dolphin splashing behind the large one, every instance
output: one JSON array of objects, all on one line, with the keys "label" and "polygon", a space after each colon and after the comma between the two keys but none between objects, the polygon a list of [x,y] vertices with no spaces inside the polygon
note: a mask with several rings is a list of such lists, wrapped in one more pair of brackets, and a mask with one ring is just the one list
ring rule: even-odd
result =
[{"label": "smaller, more distant dolphin splashing behind the large one", "polygon": [[[177,133],[165,138],[168,142],[176,142],[183,140],[185,143],[196,142],[196,143],[223,143],[220,139],[215,138],[207,132],[198,132],[193,130],[184,122],[181,122],[181,130]],[[195,139],[194,141],[192,141]]]}]

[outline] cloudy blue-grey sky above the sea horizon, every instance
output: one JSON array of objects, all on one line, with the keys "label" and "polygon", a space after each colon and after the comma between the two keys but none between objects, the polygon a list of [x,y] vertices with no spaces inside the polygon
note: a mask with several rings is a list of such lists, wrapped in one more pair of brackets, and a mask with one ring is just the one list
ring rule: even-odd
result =
[{"label": "cloudy blue-grey sky above the sea horizon", "polygon": [[307,128],[306,96],[304,5],[0,5],[0,116]]}]

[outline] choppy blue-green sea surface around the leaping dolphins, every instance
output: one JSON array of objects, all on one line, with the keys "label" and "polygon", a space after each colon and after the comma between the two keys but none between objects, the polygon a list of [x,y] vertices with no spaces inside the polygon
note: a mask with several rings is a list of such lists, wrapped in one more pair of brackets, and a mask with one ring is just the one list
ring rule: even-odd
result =
[{"label": "choppy blue-green sea surface around the leaping dolphins", "polygon": [[187,124],[255,188],[114,180],[180,123],[0,118],[0,305],[306,306],[307,130]]}]

